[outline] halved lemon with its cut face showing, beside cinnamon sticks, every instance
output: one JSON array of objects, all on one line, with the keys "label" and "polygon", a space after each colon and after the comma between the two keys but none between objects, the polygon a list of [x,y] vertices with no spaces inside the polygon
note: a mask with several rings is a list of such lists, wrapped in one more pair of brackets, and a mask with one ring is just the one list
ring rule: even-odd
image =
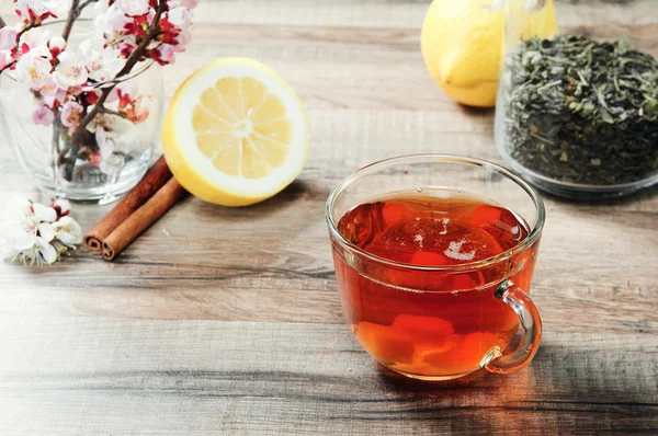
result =
[{"label": "halved lemon with its cut face showing, beside cinnamon sticks", "polygon": [[274,70],[219,59],[178,89],[164,115],[162,148],[179,183],[201,199],[248,206],[277,194],[302,172],[306,112]]}]

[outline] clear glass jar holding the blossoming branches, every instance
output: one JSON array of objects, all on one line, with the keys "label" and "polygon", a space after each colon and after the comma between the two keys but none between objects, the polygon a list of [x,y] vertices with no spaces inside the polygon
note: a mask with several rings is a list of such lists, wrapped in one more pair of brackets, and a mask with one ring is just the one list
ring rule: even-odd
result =
[{"label": "clear glass jar holding the blossoming branches", "polygon": [[[89,20],[76,22],[68,46],[79,48],[91,37],[92,26]],[[37,28],[59,35],[63,27],[63,22],[54,22]],[[99,94],[102,87],[98,85]],[[162,118],[160,67],[150,60],[138,62],[115,90],[123,90],[124,99],[118,92],[111,94],[73,141],[75,130],[63,125],[63,108],[49,123],[35,119],[35,107],[44,104],[41,93],[16,81],[15,71],[0,74],[3,136],[42,191],[72,200],[111,203],[141,180],[154,157]]]}]

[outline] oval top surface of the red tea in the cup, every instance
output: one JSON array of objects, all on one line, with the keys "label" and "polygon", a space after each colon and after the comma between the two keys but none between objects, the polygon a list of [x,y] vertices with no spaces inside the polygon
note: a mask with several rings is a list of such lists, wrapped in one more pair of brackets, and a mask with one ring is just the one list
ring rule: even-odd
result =
[{"label": "oval top surface of the red tea in the cup", "polygon": [[529,233],[523,219],[485,198],[398,194],[345,214],[338,230],[364,251],[411,265],[444,266],[500,254]]}]

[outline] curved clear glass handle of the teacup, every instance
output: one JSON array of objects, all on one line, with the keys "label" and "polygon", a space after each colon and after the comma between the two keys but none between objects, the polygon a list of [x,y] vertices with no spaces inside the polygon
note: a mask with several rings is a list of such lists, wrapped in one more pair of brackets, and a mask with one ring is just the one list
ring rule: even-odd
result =
[{"label": "curved clear glass handle of the teacup", "polygon": [[515,351],[502,354],[498,347],[489,351],[483,367],[491,372],[510,374],[524,368],[534,357],[542,339],[542,319],[527,294],[511,280],[501,283],[494,294],[512,308],[521,321],[521,341]]}]

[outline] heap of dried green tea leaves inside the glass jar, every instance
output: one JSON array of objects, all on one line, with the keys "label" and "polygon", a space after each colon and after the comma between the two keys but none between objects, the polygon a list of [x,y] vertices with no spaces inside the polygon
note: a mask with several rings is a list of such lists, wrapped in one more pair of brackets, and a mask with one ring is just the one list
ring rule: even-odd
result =
[{"label": "heap of dried green tea leaves inside the glass jar", "polygon": [[656,172],[658,61],[627,42],[532,37],[501,74],[506,144],[525,168],[611,185]]}]

